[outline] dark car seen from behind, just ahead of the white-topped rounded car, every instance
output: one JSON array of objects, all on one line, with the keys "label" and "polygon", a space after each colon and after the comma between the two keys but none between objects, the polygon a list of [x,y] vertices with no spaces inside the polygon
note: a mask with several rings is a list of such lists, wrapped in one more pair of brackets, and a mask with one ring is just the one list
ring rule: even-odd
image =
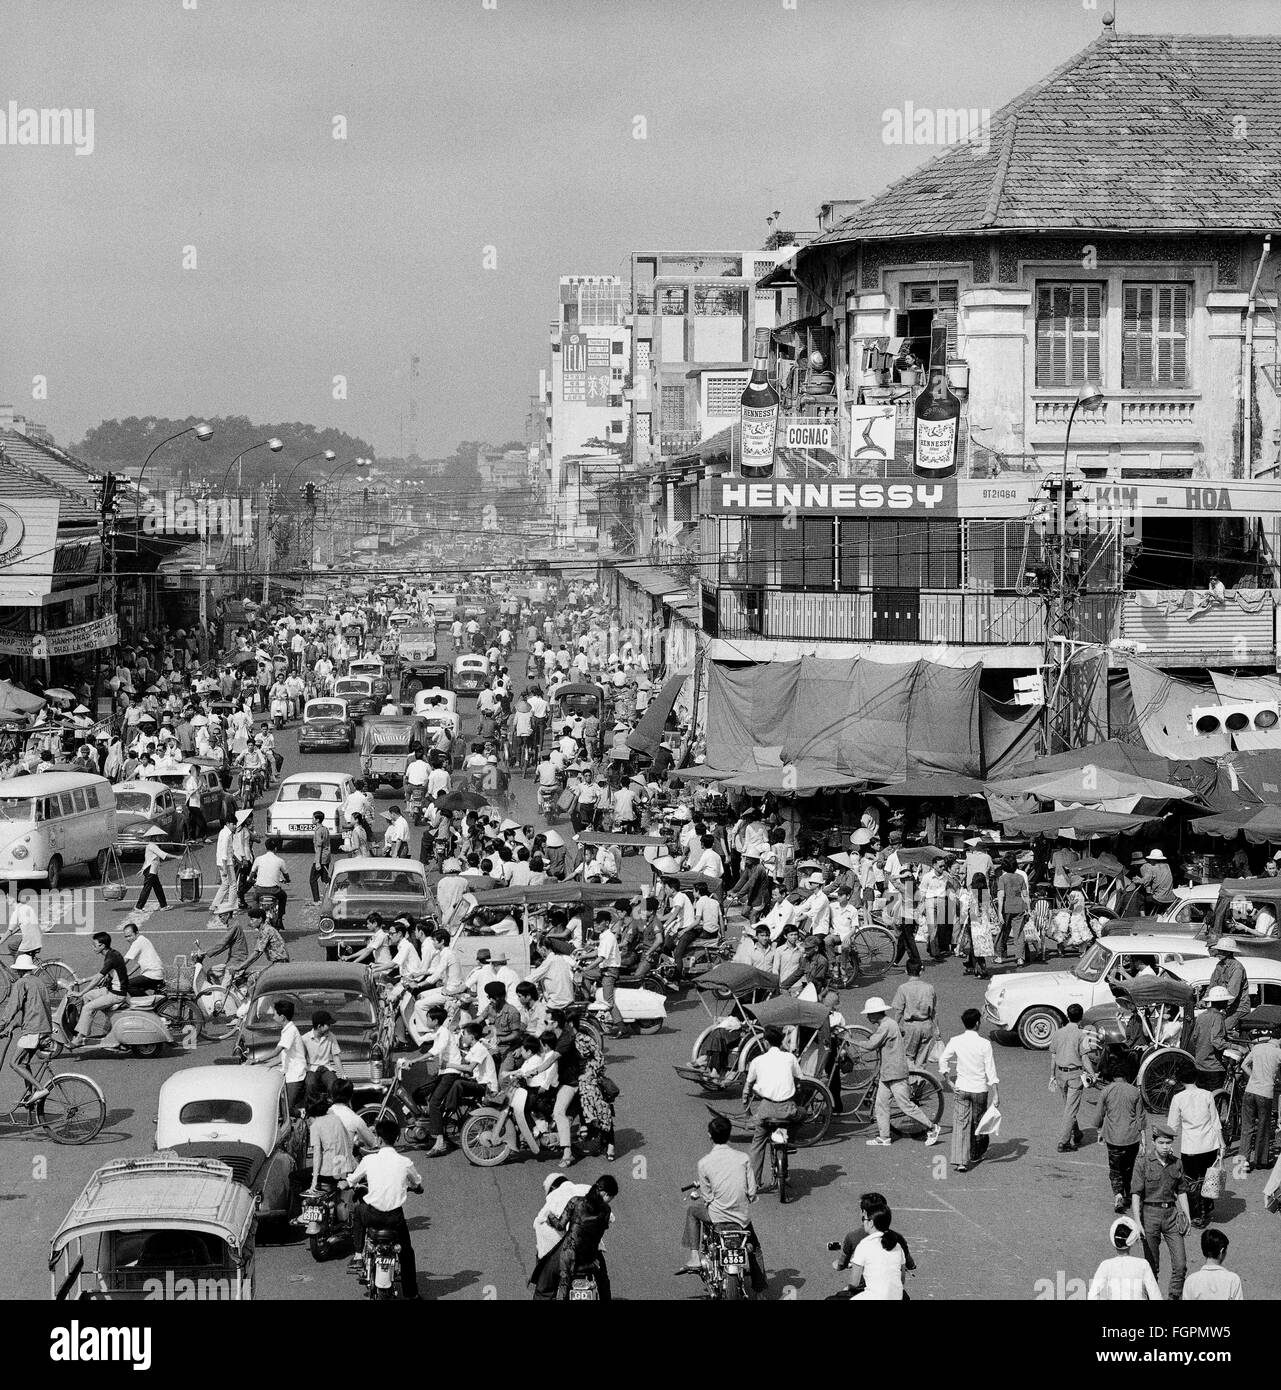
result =
[{"label": "dark car seen from behind, just ahead of the white-topped rounded car", "polygon": [[313,1013],[321,1009],[332,1013],[343,1074],[356,1088],[357,1104],[364,1097],[381,1094],[378,1083],[389,1073],[395,1017],[383,1008],[368,966],[347,960],[289,960],[268,966],[254,979],[245,1008],[236,1044],[240,1061],[261,1065],[276,1055],[281,1020],[275,1005],[281,999],[289,999],[295,1020],[303,1029]]}]

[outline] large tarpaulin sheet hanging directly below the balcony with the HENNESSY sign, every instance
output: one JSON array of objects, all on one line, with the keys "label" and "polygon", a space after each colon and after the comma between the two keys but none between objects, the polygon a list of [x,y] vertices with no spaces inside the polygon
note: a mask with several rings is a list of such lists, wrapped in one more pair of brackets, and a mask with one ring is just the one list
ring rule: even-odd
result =
[{"label": "large tarpaulin sheet hanging directly below the balcony with the HENNESSY sign", "polygon": [[935,771],[977,777],[980,677],[977,666],[932,662],[713,662],[707,766],[731,777],[763,770],[754,749],[778,746],[781,762],[814,787]]}]

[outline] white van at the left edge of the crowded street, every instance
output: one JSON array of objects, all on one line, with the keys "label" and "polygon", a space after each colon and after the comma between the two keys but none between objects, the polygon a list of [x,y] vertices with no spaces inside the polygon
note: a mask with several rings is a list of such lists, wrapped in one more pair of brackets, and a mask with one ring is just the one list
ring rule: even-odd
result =
[{"label": "white van at the left edge of the crowded street", "polygon": [[0,781],[0,883],[57,888],[68,865],[103,876],[115,840],[115,790],[92,773]]}]

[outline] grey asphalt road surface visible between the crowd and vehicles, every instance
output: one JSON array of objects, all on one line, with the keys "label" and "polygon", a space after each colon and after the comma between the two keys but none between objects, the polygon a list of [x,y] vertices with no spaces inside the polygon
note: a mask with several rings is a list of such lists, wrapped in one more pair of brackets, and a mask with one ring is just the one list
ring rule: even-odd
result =
[{"label": "grey asphalt road surface visible between the crowd and vehicles", "polygon": [[[447,651],[447,641],[442,644]],[[524,670],[524,662],[514,669]],[[467,701],[468,726],[474,702]],[[354,756],[333,762],[328,755],[296,755],[296,735],[278,735],[283,771],[300,766],[354,770]],[[272,795],[268,791],[268,798]],[[388,794],[383,792],[383,796]],[[524,821],[536,821],[532,781],[518,785]],[[265,803],[264,803],[265,805]],[[260,826],[265,816],[260,813]],[[288,856],[293,877],[288,910],[290,952],[295,959],[318,959],[315,909],[306,899],[307,853]],[[188,952],[199,935],[214,940],[207,903],[213,873],[213,844],[200,855],[204,902],[151,913],[146,933],[160,954]],[[625,877],[640,881],[638,859],[627,859]],[[132,866],[131,866],[132,867]],[[172,867],[172,866],[167,866]],[[135,869],[136,873],[136,869]],[[170,874],[172,877],[172,874]],[[68,878],[69,885],[86,880]],[[124,922],[136,888],[125,903],[94,899],[96,926],[111,931]],[[174,895],[171,895],[171,902]],[[78,973],[89,973],[92,952],[85,935],[58,933],[46,948]],[[896,979],[842,994],[842,1008],[853,1019],[874,992],[892,992]],[[928,966],[939,992],[945,1036],[960,1031],[960,1013],[981,1006],[984,986],[961,974],[960,962]],[[691,1044],[706,1022],[695,994],[668,1004],[668,1020],[659,1034],[613,1041],[610,1074],[621,1088],[618,1101],[618,1158],[584,1159],[572,1172],[590,1182],[610,1170],[618,1179],[615,1225],[609,1262],[614,1294],[620,1298],[700,1298],[696,1279],[678,1279],[684,1259],[679,1244],[682,1198],[679,1188],[693,1180],[693,1166],[709,1144],[704,1097],[682,1081],[672,1066],[689,1058]],[[178,1052],[154,1061],[128,1058],[75,1059],[63,1070],[93,1076],[108,1101],[108,1119],[99,1138],[79,1148],[0,1130],[0,1234],[6,1258],[0,1262],[0,1297],[49,1297],[49,1240],[90,1173],[111,1159],[151,1151],[156,1095],[161,1081],[183,1066],[203,1065],[226,1055],[231,1044],[203,1044],[199,1054]],[[921,1140],[899,1140],[889,1148],[867,1148],[875,1133],[866,1120],[838,1118],[825,1140],[792,1158],[792,1200],[781,1205],[763,1197],[754,1223],[770,1269],[770,1298],[825,1298],[842,1286],[831,1269],[829,1240],[839,1240],[857,1222],[860,1193],[884,1193],[895,1212],[895,1226],[907,1238],[918,1265],[909,1284],[921,1298],[1084,1298],[1098,1262],[1110,1254],[1107,1229],[1113,1219],[1107,1186],[1107,1156],[1102,1144],[1074,1154],[1057,1154],[1055,1141],[1059,1101],[1048,1094],[1045,1054],[998,1041],[1002,1133],[989,1156],[968,1173],[948,1163],[950,1101],[945,1112],[945,1143],[925,1148]],[[0,1098],[11,1104],[17,1083],[6,1072]],[[736,1102],[731,1106],[736,1109]],[[1092,1138],[1092,1133],[1088,1138]],[[527,1298],[525,1279],[534,1264],[531,1222],[542,1202],[542,1182],[553,1162],[531,1158],[481,1169],[454,1151],[442,1159],[421,1156],[427,1190],[411,1197],[408,1223],[418,1258],[420,1291],[425,1298]],[[1230,1177],[1218,1202],[1217,1225],[1231,1238],[1228,1265],[1245,1280],[1246,1297],[1281,1297],[1281,1262],[1275,1259],[1275,1222],[1263,1209],[1266,1175]],[[1200,1262],[1198,1233],[1188,1238],[1189,1266]],[[345,1259],[313,1261],[301,1238],[289,1244],[261,1244],[257,1261],[258,1298],[357,1298],[358,1286],[345,1272]],[[1167,1270],[1162,1270],[1162,1284]]]}]

